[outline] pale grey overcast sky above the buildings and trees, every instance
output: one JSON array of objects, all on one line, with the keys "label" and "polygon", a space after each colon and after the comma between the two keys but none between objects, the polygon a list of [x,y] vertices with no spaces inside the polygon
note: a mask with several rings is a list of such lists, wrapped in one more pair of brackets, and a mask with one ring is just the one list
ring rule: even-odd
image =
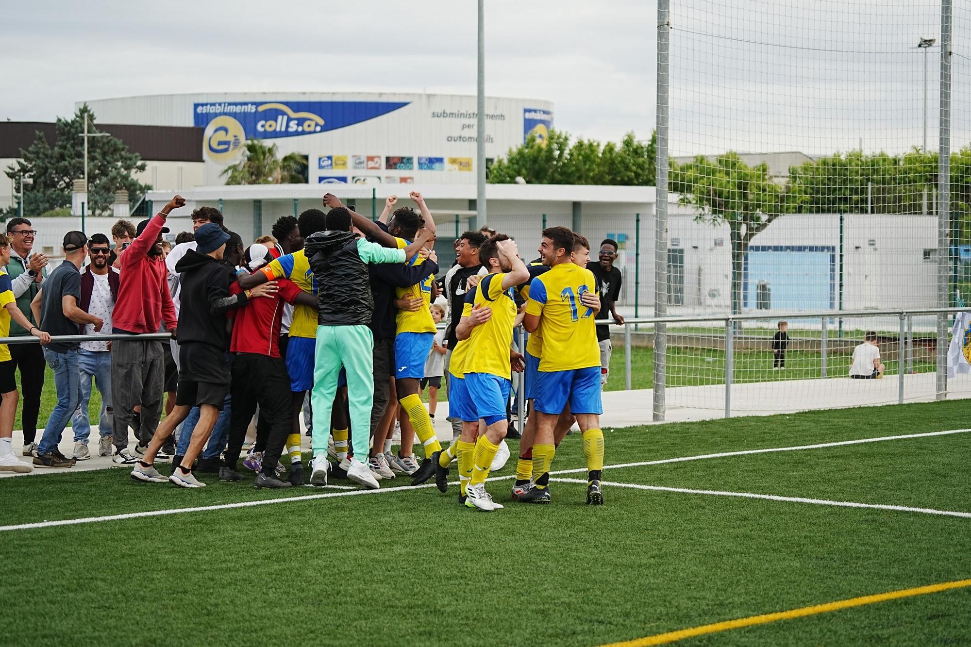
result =
[{"label": "pale grey overcast sky above the buildings and trees", "polygon": [[[672,0],[672,154],[921,144],[921,36],[935,0]],[[954,15],[954,135],[971,132],[971,8]],[[474,94],[476,3],[0,0],[0,119],[198,91]],[[654,125],[653,1],[487,0],[486,93],[551,100],[554,125],[618,140]],[[931,51],[936,141],[939,50]],[[935,144],[931,143],[933,148]]]}]

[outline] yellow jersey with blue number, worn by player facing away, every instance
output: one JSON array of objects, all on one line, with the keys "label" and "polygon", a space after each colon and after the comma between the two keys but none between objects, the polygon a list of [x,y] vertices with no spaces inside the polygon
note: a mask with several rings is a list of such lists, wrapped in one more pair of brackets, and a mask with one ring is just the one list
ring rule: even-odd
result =
[{"label": "yellow jersey with blue number, worn by player facing away", "polygon": [[554,265],[532,280],[526,314],[540,316],[541,371],[600,365],[593,310],[580,301],[585,292],[597,294],[596,280],[588,269],[573,263]]}]

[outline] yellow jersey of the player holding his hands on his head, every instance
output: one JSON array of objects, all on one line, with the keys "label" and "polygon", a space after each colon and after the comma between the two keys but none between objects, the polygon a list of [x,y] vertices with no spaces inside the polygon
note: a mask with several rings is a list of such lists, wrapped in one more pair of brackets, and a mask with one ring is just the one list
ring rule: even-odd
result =
[{"label": "yellow jersey of the player holding his hands on his head", "polygon": [[466,373],[490,373],[511,379],[512,368],[509,349],[513,343],[513,327],[516,325],[516,301],[512,289],[502,289],[505,274],[487,274],[475,290],[473,307],[476,305],[492,311],[485,323],[472,328],[472,342],[465,356]]}]

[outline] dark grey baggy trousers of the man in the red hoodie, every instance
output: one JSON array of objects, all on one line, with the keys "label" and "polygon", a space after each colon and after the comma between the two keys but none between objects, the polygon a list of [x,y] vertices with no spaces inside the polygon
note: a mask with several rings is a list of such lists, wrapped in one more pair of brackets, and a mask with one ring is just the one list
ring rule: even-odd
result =
[{"label": "dark grey baggy trousers of the man in the red hoodie", "polygon": [[112,342],[112,396],[115,420],[113,443],[118,450],[128,447],[128,426],[132,412],[142,405],[142,427],[136,434],[140,445],[148,445],[162,416],[165,389],[164,341]]}]

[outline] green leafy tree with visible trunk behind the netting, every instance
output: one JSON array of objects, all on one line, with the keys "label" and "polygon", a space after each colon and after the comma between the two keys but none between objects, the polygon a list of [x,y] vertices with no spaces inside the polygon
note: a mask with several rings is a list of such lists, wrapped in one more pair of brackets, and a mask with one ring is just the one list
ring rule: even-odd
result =
[{"label": "green leafy tree with visible trunk behind the netting", "polygon": [[749,166],[738,153],[714,161],[698,155],[684,164],[671,162],[668,187],[679,202],[694,208],[696,222],[728,224],[731,241],[731,309],[742,309],[742,266],[759,231],[792,211],[798,194],[791,185],[773,182],[764,162]]}]

